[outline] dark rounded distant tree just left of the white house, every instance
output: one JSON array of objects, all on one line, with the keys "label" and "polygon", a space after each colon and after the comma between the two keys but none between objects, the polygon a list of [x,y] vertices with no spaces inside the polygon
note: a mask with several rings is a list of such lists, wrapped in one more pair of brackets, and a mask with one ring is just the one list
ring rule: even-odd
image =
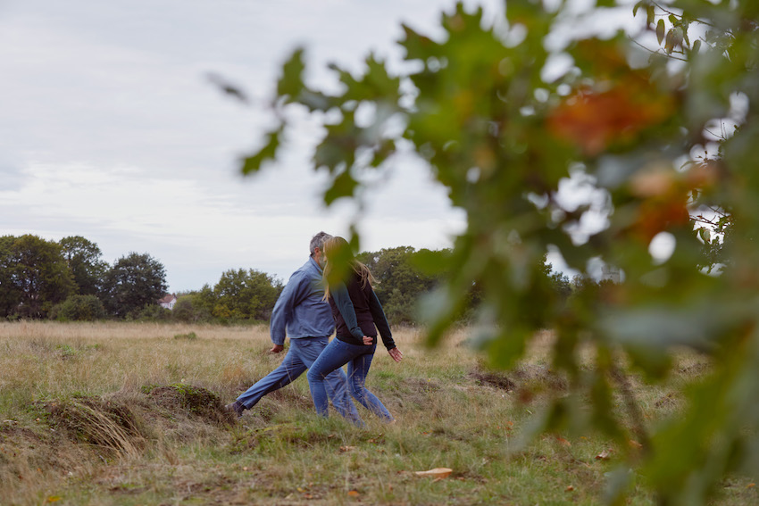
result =
[{"label": "dark rounded distant tree just left of the white house", "polygon": [[129,253],[105,273],[104,305],[114,316],[137,316],[146,305],[157,304],[166,290],[163,264],[147,253]]}]

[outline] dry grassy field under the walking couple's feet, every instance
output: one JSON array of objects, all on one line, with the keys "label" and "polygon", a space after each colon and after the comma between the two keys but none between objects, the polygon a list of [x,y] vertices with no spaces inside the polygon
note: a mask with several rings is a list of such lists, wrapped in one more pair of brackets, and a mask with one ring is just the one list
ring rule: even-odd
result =
[{"label": "dry grassy field under the walking couple's feet", "polygon": [[[430,351],[398,329],[405,360],[377,354],[367,385],[396,417],[367,427],[313,412],[305,377],[237,423],[221,406],[281,361],[265,327],[0,324],[0,504],[598,504],[619,449],[597,435],[520,446],[546,394],[550,333],[512,371],[482,366],[467,330]],[[647,420],[680,408],[705,359],[632,385]],[[415,474],[450,468],[444,479]],[[655,504],[636,477],[628,503]],[[759,502],[726,480],[715,503]]]}]

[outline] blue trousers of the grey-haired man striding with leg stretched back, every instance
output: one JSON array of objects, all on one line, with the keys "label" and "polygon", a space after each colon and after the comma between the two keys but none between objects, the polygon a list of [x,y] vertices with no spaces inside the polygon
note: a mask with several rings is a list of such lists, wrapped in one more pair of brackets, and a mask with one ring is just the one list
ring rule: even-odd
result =
[{"label": "blue trousers of the grey-haired man striding with leg stretched back", "polygon": [[[290,339],[290,349],[288,350],[288,354],[285,355],[285,359],[279,364],[279,367],[259,379],[254,386],[248,388],[244,394],[238,397],[238,402],[241,402],[249,410],[264,395],[279,390],[282,386],[289,385],[302,375],[305,369],[312,366],[313,361],[319,357],[319,353],[324,350],[328,343],[329,337]],[[325,379],[325,402],[326,396],[329,395],[329,400],[332,401],[332,405],[335,406],[338,413],[346,419],[351,420],[354,424],[362,425],[358,411],[355,410],[354,403],[348,397],[346,374],[343,372],[343,369],[332,371]]]}]

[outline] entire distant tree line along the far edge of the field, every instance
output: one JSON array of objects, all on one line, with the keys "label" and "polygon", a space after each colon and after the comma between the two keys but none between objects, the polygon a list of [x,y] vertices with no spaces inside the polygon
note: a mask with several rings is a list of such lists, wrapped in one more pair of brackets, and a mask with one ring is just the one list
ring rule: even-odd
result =
[{"label": "entire distant tree line along the far edge of the field", "polygon": [[[394,325],[419,322],[417,301],[443,279],[424,268],[430,256],[450,250],[416,251],[411,246],[363,252],[377,278],[376,292]],[[566,299],[595,281],[553,272],[543,258],[546,281]],[[110,265],[96,243],[82,236],[58,242],[39,236],[0,237],[0,318],[4,319],[138,319],[184,322],[267,321],[283,282],[254,269],[230,269],[215,285],[177,294],[173,310],[159,299],[166,294],[163,264],[148,253],[128,253]],[[466,320],[479,302],[471,287],[469,303],[459,315]]]}]

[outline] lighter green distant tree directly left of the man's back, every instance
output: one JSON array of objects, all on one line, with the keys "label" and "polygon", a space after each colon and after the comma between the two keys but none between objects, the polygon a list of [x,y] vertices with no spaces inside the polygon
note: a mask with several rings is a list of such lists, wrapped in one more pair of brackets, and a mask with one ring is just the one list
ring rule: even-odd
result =
[{"label": "lighter green distant tree directly left of the man's back", "polygon": [[227,270],[213,287],[213,316],[222,319],[269,319],[282,285],[259,270]]}]

